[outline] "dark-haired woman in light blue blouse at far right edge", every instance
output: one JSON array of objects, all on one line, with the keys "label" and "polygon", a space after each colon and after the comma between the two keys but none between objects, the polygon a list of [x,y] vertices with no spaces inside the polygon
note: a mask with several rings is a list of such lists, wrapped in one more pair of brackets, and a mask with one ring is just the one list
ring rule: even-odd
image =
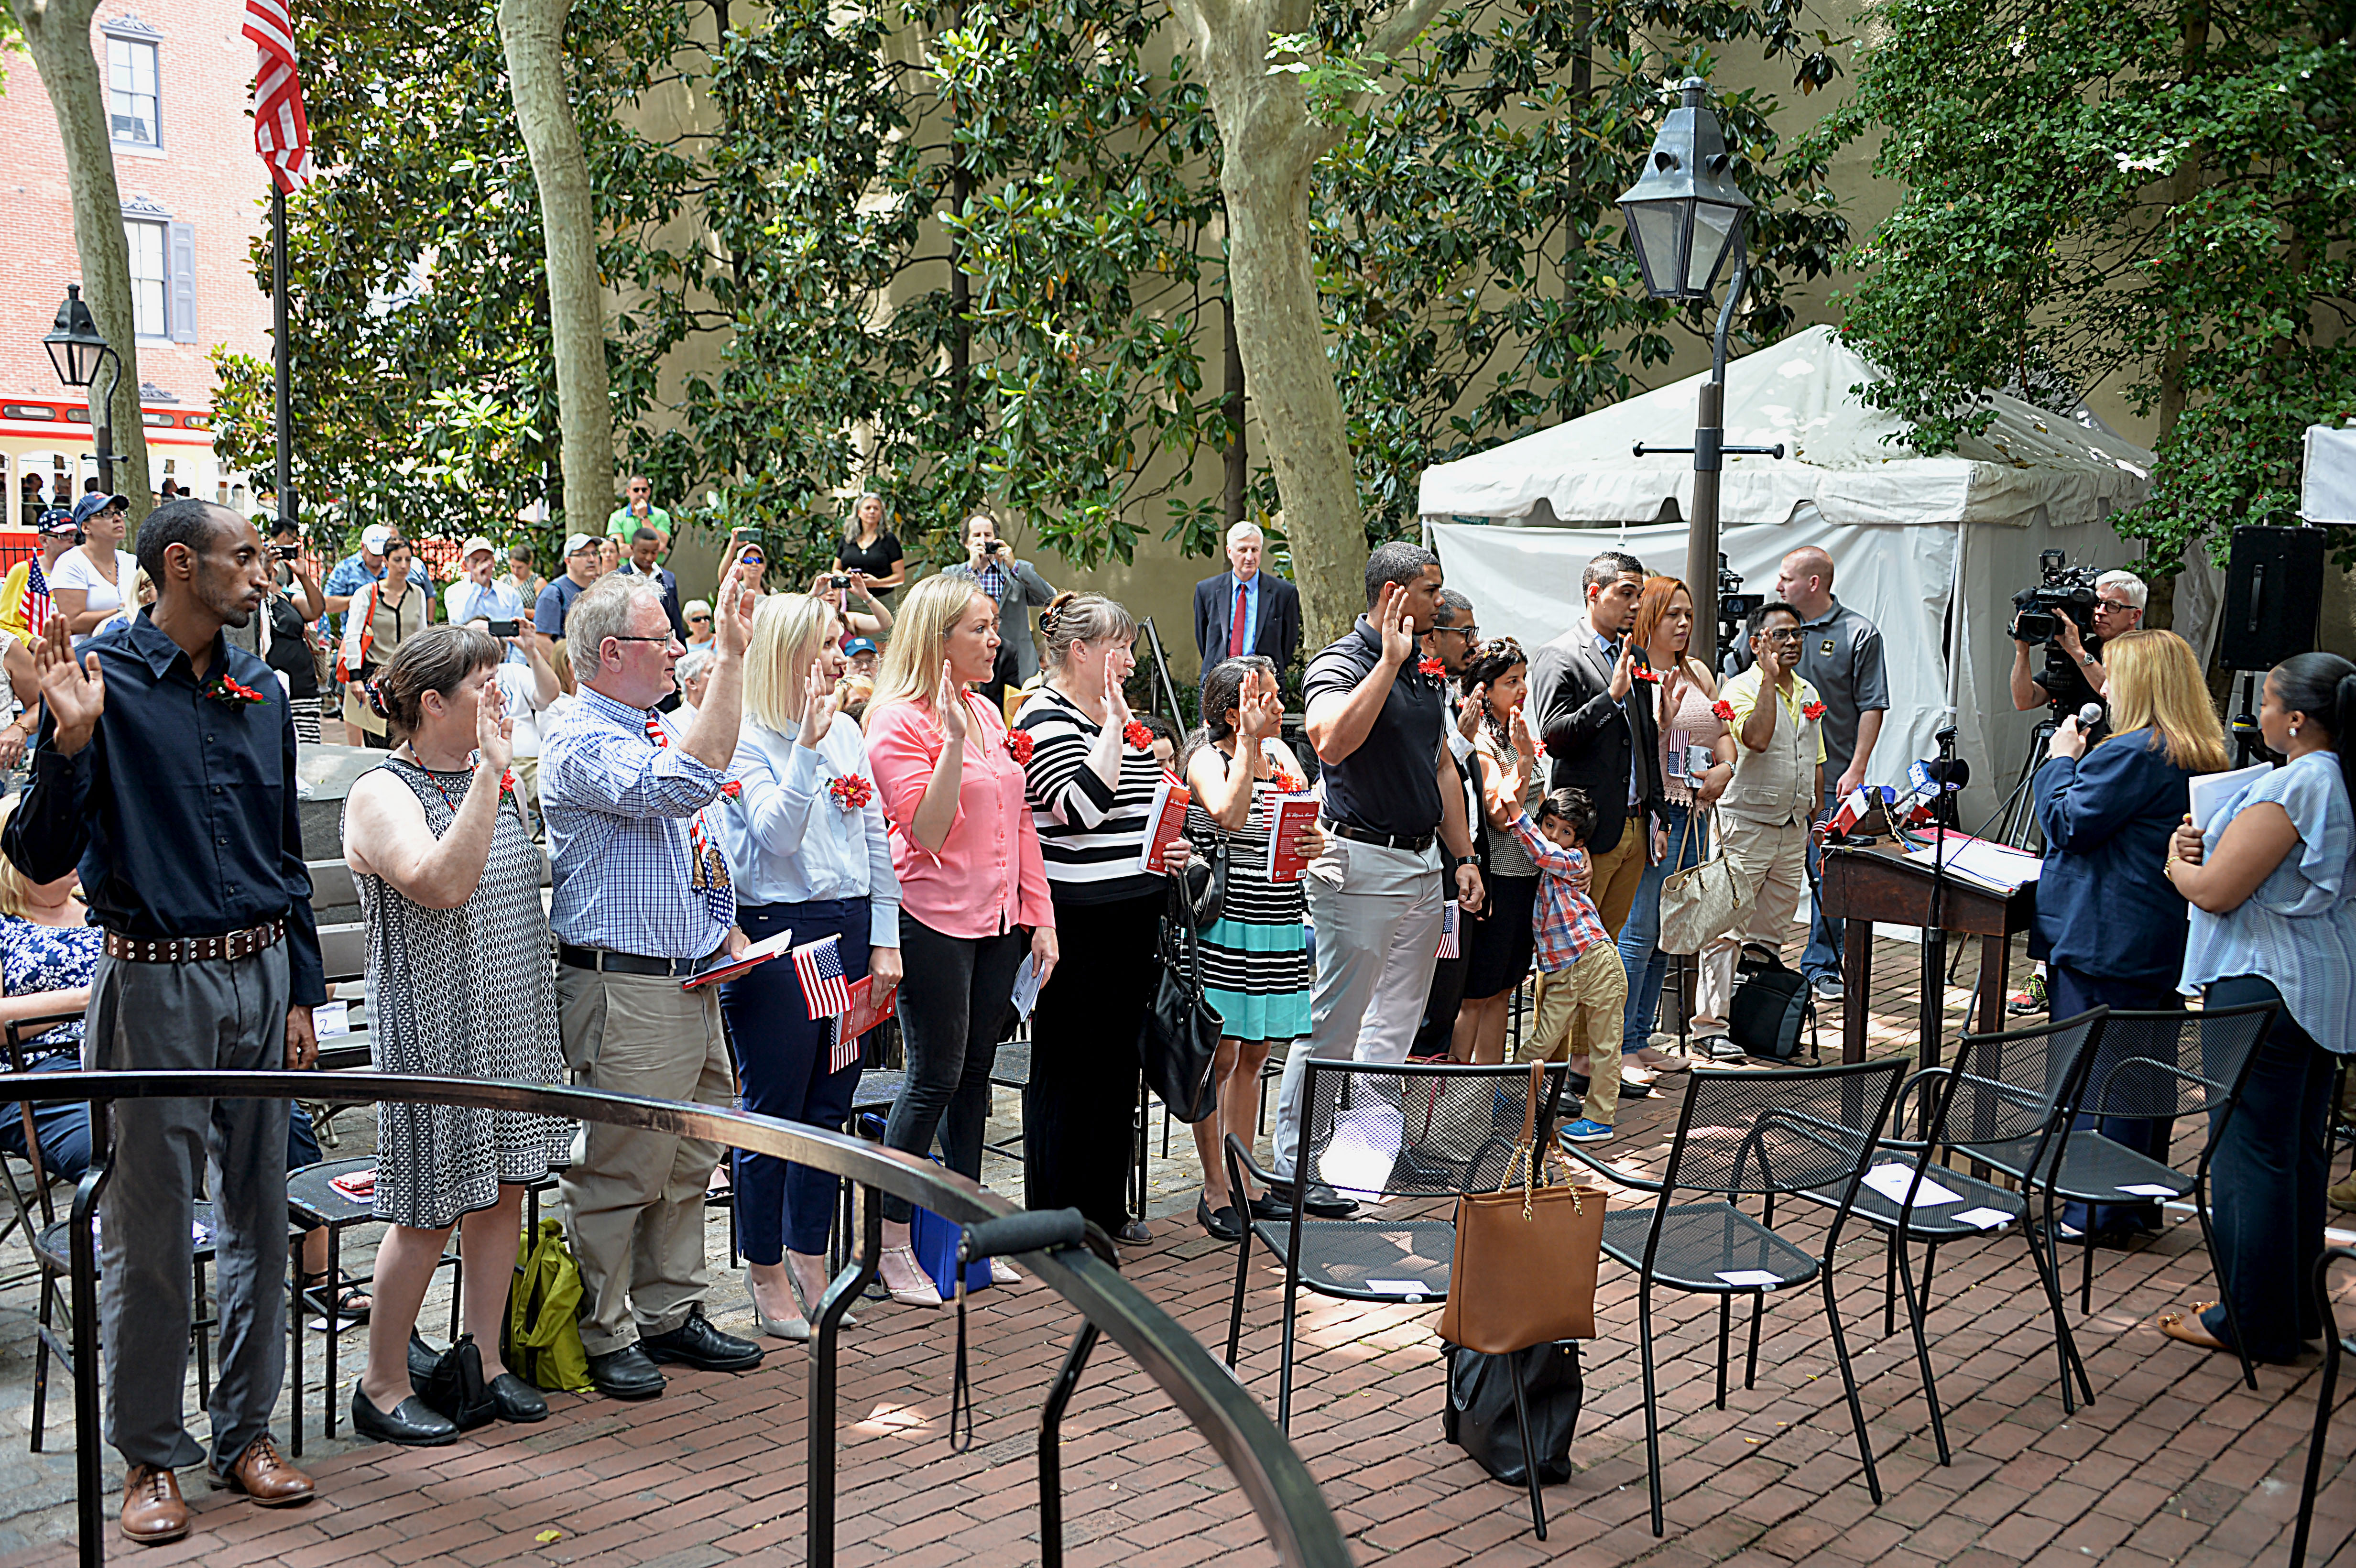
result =
[{"label": "dark-haired woman in light blue blouse at far right edge", "polygon": [[2316,1311],[2314,1278],[2332,1074],[2356,1055],[2356,664],[2325,652],[2283,659],[2266,673],[2257,727],[2288,760],[2231,796],[2205,833],[2177,826],[2165,862],[2193,904],[2184,989],[2205,986],[2210,1008],[2283,1005],[2210,1158],[2217,1278],[2233,1293],[2233,1323],[2224,1307],[2193,1307],[2160,1316],[2160,1333],[2231,1349],[2238,1326],[2250,1361],[2281,1363],[2335,1333]]}]

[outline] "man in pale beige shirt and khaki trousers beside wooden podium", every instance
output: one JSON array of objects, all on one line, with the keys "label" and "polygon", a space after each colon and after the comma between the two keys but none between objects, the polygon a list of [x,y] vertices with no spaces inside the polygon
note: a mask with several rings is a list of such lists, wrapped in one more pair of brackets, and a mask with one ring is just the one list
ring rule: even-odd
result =
[{"label": "man in pale beige shirt and khaki trousers beside wooden podium", "polygon": [[1800,643],[1798,610],[1760,605],[1751,612],[1753,664],[1718,690],[1718,716],[1734,730],[1734,782],[1718,796],[1718,831],[1736,890],[1753,890],[1748,923],[1701,949],[1694,1036],[1720,1062],[1743,1055],[1727,1038],[1734,958],[1743,946],[1781,956],[1807,888],[1807,824],[1824,796],[1824,702],[1798,676]]}]

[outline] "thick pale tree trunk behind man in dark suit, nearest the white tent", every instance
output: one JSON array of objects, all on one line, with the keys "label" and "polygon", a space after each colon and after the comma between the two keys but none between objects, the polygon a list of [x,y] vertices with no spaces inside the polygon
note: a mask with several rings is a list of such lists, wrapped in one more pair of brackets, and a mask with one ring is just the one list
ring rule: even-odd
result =
[{"label": "thick pale tree trunk behind man in dark suit, nearest the white tent", "polygon": [[[1268,73],[1270,35],[1312,31],[1312,7],[1176,0],[1176,9],[1194,38],[1218,122],[1235,337],[1317,647],[1343,636],[1366,605],[1366,520],[1310,271],[1310,170],[1333,146],[1333,132],[1310,118],[1296,73]],[[1402,52],[1437,12],[1440,0],[1399,0],[1369,28],[1366,49]]]}]

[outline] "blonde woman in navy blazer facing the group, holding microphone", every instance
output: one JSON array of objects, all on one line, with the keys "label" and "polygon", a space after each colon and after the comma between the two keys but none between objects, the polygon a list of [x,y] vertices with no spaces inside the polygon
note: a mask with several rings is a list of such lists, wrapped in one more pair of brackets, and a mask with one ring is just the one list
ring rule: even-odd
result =
[{"label": "blonde woman in navy blazer facing the group, holding microphone", "polygon": [[[2092,751],[2076,718],[2064,718],[2038,768],[2038,826],[2045,871],[2029,954],[2045,961],[2052,1017],[2111,1005],[2168,1012],[2184,1005],[2189,916],[2163,866],[2168,841],[2191,805],[2196,775],[2226,765],[2224,727],[2210,706],[2201,662],[2172,631],[2130,631],[2102,650],[2111,678],[2111,737]],[[2092,1083],[2109,1062],[2094,1062]],[[2165,1121],[2078,1118],[2111,1142],[2168,1158]],[[2151,1203],[2071,1203],[2064,1224],[2099,1236],[2156,1231]]]}]

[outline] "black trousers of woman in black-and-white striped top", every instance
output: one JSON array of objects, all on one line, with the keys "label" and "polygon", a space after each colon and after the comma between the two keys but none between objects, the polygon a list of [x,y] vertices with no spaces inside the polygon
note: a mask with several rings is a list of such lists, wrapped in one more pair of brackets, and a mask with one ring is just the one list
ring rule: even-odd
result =
[{"label": "black trousers of woman in black-and-white striped top", "polygon": [[1129,1224],[1138,1026],[1154,998],[1164,892],[1114,904],[1055,899],[1055,972],[1032,1015],[1023,1090],[1023,1208]]}]

